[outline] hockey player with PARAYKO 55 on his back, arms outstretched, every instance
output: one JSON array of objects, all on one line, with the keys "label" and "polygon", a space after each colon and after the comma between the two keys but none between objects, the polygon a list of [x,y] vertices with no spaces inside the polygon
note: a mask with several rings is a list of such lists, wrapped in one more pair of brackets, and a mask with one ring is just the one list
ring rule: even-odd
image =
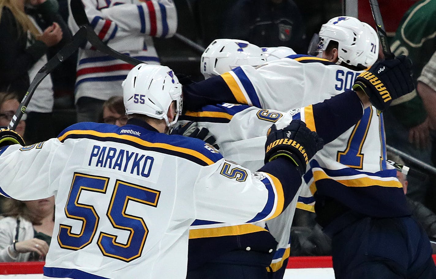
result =
[{"label": "hockey player with PARAYKO 55 on his back, arms outstretched", "polygon": [[269,133],[266,145],[283,141],[251,173],[201,140],[165,134],[181,111],[181,85],[169,68],[137,65],[123,91],[126,126],[82,122],[31,146],[0,132],[0,192],[19,200],[55,195],[45,278],[184,279],[194,219],[277,216],[322,147],[293,121]]}]

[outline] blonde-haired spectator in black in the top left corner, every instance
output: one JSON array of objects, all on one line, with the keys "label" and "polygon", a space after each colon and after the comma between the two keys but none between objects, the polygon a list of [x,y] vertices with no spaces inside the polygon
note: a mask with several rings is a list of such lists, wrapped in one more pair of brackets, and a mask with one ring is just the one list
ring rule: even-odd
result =
[{"label": "blonde-haired spectator in black in the top left corner", "polygon": [[27,2],[37,5],[41,14],[49,15],[55,9],[48,0],[0,0],[0,91],[22,95],[29,86],[28,70],[62,38],[57,23],[42,34],[38,31],[24,11]]}]

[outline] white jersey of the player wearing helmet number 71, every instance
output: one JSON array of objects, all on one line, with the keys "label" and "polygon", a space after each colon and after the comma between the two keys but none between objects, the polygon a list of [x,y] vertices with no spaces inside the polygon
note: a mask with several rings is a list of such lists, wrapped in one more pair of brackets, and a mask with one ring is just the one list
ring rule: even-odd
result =
[{"label": "white jersey of the player wearing helmet number 71", "polygon": [[[322,101],[350,89],[359,71],[307,55],[291,55],[257,69],[241,66],[184,88],[187,103],[200,95],[210,102],[238,102],[282,111]],[[326,119],[317,132],[331,129]],[[362,214],[396,217],[409,214],[396,170],[386,164],[383,116],[365,110],[357,125],[326,144],[304,176],[312,193],[332,197]]]}]

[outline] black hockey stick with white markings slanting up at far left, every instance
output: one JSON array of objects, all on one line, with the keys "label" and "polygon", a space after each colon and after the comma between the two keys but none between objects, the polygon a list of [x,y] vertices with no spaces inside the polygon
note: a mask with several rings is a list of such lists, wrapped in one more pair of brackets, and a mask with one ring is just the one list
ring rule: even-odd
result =
[{"label": "black hockey stick with white markings slanting up at far left", "polygon": [[21,117],[23,117],[24,112],[26,111],[27,105],[29,105],[30,99],[32,98],[33,93],[37,86],[41,83],[41,81],[53,71],[54,68],[58,67],[63,61],[65,61],[68,57],[73,54],[83,42],[86,41],[86,29],[81,27],[79,31],[73,36],[73,40],[66,44],[63,48],[54,57],[52,57],[35,75],[32,80],[29,88],[27,89],[26,95],[24,95],[23,100],[20,103],[17,111],[14,116],[10,120],[7,129],[15,130],[20,123]]}]

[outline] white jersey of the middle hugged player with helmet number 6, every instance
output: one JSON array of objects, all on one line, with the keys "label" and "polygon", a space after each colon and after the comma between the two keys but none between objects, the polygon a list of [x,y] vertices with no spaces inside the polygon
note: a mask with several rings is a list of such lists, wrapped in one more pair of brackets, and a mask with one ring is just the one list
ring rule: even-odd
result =
[{"label": "white jersey of the middle hugged player with helmet number 6", "polygon": [[[363,115],[361,102],[354,92],[346,92],[322,104],[309,105],[301,109],[294,109],[291,112],[223,103],[207,105],[195,112],[188,111],[184,116],[181,116],[181,119],[183,119],[182,122],[195,121],[198,122],[198,126],[208,128],[210,133],[215,136],[216,142],[220,146],[220,152],[229,160],[241,163],[250,170],[258,170],[262,167],[265,157],[266,133],[273,123],[277,129],[282,129],[289,125],[293,119],[301,119],[307,123],[310,129],[316,130],[317,126],[324,124],[325,119],[330,116],[332,111],[337,110],[336,116],[330,118],[330,123],[335,124],[336,128],[331,129],[329,135],[320,134],[328,142],[358,122],[358,119]],[[299,192],[297,192],[283,214],[266,221],[266,225],[265,222],[255,223],[257,228],[252,224],[223,226],[223,224],[204,221],[194,222],[190,228],[188,267],[196,265],[195,262],[204,261],[208,257],[208,255],[201,254],[203,252],[201,246],[209,244],[209,246],[214,247],[212,245],[214,240],[211,238],[240,235],[239,242],[248,243],[252,251],[267,253],[276,250],[270,270],[275,272],[280,269],[283,261],[290,255],[290,227],[295,208],[299,207],[297,201],[300,208],[313,211],[312,194],[305,183],[302,184],[302,189],[305,193],[303,197],[299,197]],[[253,233],[267,231],[266,228],[278,242],[277,248],[272,249],[272,247],[266,246],[265,242],[268,241],[266,235],[259,235],[257,238],[253,235]],[[252,235],[248,236],[248,234]],[[204,240],[200,240],[200,238],[204,238]],[[247,238],[247,241],[242,241],[242,238]],[[196,241],[194,242],[193,239]],[[229,250],[245,249],[245,247],[232,246],[234,244],[231,240],[215,240],[215,242],[221,244],[221,250],[224,250],[226,245],[229,246]],[[216,253],[217,251],[212,250],[211,252]]]}]

